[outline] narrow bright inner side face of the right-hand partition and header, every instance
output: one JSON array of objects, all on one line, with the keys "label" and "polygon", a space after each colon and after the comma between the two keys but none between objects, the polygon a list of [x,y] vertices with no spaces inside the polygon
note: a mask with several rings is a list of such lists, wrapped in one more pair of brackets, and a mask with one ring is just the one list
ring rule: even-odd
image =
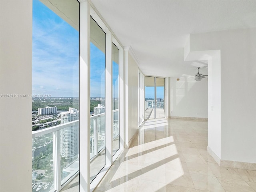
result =
[{"label": "narrow bright inner side face of the right-hand partition and header", "polygon": [[184,48],[184,60],[208,60],[208,151],[220,164],[220,50],[191,51],[188,41]]}]

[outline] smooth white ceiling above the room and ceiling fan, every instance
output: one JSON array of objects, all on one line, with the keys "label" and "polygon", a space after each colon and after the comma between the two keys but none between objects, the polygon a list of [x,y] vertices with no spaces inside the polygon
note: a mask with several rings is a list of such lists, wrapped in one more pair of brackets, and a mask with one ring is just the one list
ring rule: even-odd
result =
[{"label": "smooth white ceiling above the room and ceiling fan", "polygon": [[91,0],[145,75],[207,74],[207,61],[184,62],[189,34],[256,27],[256,0]]}]

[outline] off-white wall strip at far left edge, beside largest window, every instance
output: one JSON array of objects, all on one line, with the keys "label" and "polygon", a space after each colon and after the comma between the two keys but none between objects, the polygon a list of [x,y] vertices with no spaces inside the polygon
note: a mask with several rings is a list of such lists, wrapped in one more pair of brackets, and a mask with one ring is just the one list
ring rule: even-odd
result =
[{"label": "off-white wall strip at far left edge, beside largest window", "polygon": [[32,0],[0,1],[0,191],[32,190]]}]

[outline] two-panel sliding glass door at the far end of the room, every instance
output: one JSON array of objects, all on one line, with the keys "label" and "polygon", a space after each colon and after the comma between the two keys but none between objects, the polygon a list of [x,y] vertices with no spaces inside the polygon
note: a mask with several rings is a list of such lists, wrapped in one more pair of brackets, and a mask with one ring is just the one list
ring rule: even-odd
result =
[{"label": "two-panel sliding glass door at the far end of the room", "polygon": [[164,78],[145,76],[145,120],[165,117]]}]

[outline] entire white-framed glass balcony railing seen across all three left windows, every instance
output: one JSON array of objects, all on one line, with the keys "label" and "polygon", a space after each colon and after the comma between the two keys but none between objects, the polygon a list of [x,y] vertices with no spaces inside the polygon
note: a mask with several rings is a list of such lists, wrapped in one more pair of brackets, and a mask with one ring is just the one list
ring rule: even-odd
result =
[{"label": "entire white-framed glass balcony railing seen across all three left windows", "polygon": [[[113,119],[118,113],[113,110]],[[105,122],[105,113],[90,117],[91,162],[106,148]],[[78,125],[75,120],[32,132],[32,192],[60,191],[78,174]],[[114,129],[113,141],[118,136],[119,130]]]}]

